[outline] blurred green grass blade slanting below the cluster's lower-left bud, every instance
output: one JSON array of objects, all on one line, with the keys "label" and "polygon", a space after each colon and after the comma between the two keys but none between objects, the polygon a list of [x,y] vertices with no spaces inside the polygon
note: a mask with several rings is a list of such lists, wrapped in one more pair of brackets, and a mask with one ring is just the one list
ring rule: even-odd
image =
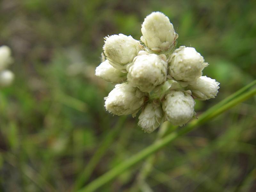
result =
[{"label": "blurred green grass blade slanting below the cluster's lower-left bud", "polygon": [[84,171],[76,179],[76,182],[74,184],[75,191],[81,188],[84,185],[84,183],[90,178],[94,168],[99,163],[101,157],[104,156],[104,154],[106,153],[107,149],[109,148],[113,140],[115,140],[116,135],[118,134],[120,127],[123,126],[126,118],[127,116],[121,116],[118,119],[118,122],[116,123],[115,127],[108,132],[106,137],[104,137],[104,140],[100,144],[100,147],[93,154],[92,158],[85,166]]}]

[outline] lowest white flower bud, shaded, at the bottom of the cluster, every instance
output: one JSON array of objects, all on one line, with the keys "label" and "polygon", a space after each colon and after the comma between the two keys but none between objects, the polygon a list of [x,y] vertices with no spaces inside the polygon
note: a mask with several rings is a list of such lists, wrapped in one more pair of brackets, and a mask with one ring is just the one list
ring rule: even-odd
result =
[{"label": "lowest white flower bud, shaded, at the bottom of the cluster", "polygon": [[163,115],[159,104],[148,103],[140,113],[138,125],[145,132],[151,133],[162,123]]}]

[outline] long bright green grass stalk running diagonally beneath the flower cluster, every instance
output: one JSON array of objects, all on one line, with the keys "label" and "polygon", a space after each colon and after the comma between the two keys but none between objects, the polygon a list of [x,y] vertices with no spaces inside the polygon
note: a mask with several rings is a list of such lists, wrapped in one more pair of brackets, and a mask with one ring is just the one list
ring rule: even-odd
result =
[{"label": "long bright green grass stalk running diagonally beneath the flower cluster", "polygon": [[[90,192],[94,191],[98,188],[100,188],[102,185],[108,183],[112,179],[116,178],[118,175],[123,173],[125,170],[129,169],[133,165],[139,163],[144,158],[150,156],[151,154],[155,153],[156,151],[160,150],[167,144],[171,143],[173,140],[178,138],[179,136],[182,136],[190,131],[192,131],[196,126],[203,124],[204,122],[220,115],[221,113],[225,112],[226,110],[232,108],[238,103],[243,102],[244,100],[247,100],[248,98],[252,97],[256,94],[256,89],[252,89],[251,91],[245,92],[246,90],[250,89],[253,85],[256,84],[256,81],[253,81],[250,85],[250,87],[247,85],[244,88],[240,89],[238,92],[233,94],[232,96],[225,99],[226,104],[223,105],[223,101],[216,104],[209,110],[207,110],[205,113],[203,113],[197,120],[191,121],[187,126],[183,127],[182,129],[172,132],[165,136],[164,138],[156,141],[152,145],[148,146],[147,148],[141,150],[139,153],[133,155],[132,157],[128,158],[123,163],[117,165],[112,170],[106,172],[96,180],[89,183],[87,186],[82,188],[79,192]],[[239,95],[239,96],[238,96]],[[217,106],[217,107],[216,107]]]}]

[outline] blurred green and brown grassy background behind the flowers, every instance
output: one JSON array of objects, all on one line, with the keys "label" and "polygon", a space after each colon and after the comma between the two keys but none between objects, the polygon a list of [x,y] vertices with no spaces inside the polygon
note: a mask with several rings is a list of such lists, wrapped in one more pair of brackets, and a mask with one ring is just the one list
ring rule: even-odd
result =
[{"label": "blurred green and brown grassy background behind the flowers", "polygon": [[[139,40],[153,11],[220,82],[198,115],[255,79],[255,1],[0,1],[0,45],[15,60],[14,83],[0,89],[0,191],[75,191],[154,142],[138,117],[106,112],[114,85],[94,76],[103,38]],[[255,191],[255,119],[254,97],[156,153],[145,188],[140,163],[99,191]]]}]

